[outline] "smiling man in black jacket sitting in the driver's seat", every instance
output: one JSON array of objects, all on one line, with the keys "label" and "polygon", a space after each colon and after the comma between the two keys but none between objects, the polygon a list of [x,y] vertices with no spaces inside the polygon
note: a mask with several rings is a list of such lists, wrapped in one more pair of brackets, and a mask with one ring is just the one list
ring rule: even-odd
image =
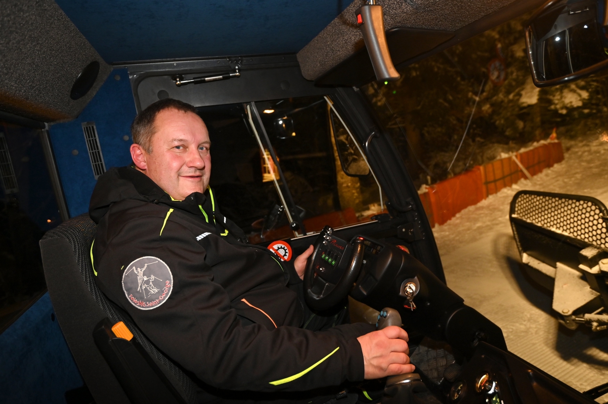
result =
[{"label": "smiling man in black jacket sitting in the driver's seat", "polygon": [[413,371],[400,327],[333,326],[342,306],[302,328],[313,313],[302,298],[312,248],[280,262],[220,213],[209,187],[209,134],[193,106],[157,101],[131,132],[133,165],[109,169],[91,197],[95,279],[202,382],[201,402],[251,400],[252,391],[272,400]]}]

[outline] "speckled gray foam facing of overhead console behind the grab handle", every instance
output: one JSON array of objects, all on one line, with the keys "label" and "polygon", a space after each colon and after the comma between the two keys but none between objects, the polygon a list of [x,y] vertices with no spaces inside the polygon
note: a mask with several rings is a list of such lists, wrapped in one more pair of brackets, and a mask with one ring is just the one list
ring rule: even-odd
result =
[{"label": "speckled gray foam facing of overhead console behind the grab handle", "polygon": [[[377,0],[384,9],[384,27],[456,31],[515,0]],[[355,11],[365,4],[355,0],[330,22],[297,57],[302,75],[315,80],[364,46]]]}]

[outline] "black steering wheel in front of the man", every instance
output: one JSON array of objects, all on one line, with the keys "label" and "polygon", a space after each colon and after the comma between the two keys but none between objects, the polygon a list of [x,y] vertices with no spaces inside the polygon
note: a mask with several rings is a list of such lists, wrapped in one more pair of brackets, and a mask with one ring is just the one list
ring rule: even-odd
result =
[{"label": "black steering wheel in front of the man", "polygon": [[363,261],[365,250],[363,239],[354,239],[352,244],[345,243],[343,250],[343,255],[347,255],[349,252],[352,254],[348,265],[345,266],[342,262],[344,259],[348,259],[348,256],[340,256],[337,266],[334,265],[333,269],[325,270],[322,255],[330,250],[330,244],[334,244],[333,242],[336,241],[331,233],[333,233],[331,227],[323,228],[314,242],[313,255],[306,263],[304,297],[308,306],[315,310],[329,309],[348,295],[359,276]]}]

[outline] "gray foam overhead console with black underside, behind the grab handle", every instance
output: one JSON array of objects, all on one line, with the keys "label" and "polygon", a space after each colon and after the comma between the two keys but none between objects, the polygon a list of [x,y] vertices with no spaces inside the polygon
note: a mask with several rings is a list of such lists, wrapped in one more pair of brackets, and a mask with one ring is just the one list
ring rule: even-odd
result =
[{"label": "gray foam overhead console with black underside, behind the grab handle", "polygon": [[[545,0],[376,0],[397,69],[539,7]],[[361,86],[375,80],[357,26],[355,0],[297,54],[302,75],[317,85]]]}]

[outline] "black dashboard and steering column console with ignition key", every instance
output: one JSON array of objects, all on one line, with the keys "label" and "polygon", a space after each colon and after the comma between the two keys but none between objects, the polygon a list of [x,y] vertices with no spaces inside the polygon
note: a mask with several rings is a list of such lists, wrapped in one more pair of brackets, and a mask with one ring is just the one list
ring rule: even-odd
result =
[{"label": "black dashboard and steering column console with ignition key", "polygon": [[[410,334],[420,333],[449,344],[458,363],[439,386],[429,386],[444,403],[594,403],[508,352],[500,327],[466,306],[457,293],[404,248],[362,235],[346,241],[333,236],[331,228],[326,227],[317,238],[311,258],[307,268],[311,271],[309,295],[322,301],[325,296],[344,293],[338,297],[348,294],[381,313],[394,309]],[[405,376],[400,388],[415,385],[407,383],[414,379]],[[412,395],[396,397],[385,397],[382,402],[415,402],[413,398],[404,399]]]}]

